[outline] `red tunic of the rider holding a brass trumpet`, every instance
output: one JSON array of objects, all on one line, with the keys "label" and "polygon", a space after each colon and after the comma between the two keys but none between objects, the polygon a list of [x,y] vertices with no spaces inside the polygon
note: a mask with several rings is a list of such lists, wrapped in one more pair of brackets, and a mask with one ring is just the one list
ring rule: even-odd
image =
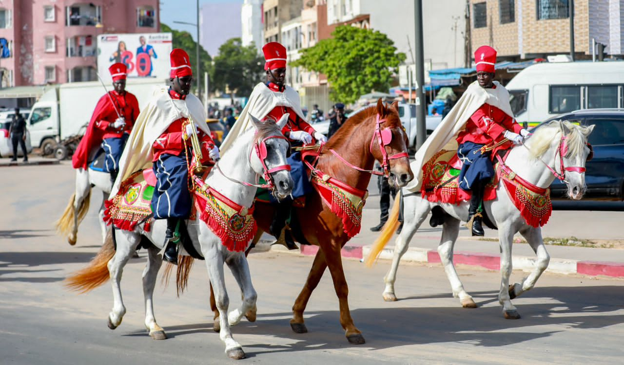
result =
[{"label": "red tunic of the rider holding a brass trumpet", "polygon": [[[169,95],[173,99],[185,99],[185,95],[180,95],[173,90],[169,90]],[[184,141],[182,140],[182,136],[184,134],[185,127],[183,126],[183,122],[186,118],[180,118],[178,120],[173,121],[168,127],[167,130],[160,135],[152,144],[152,151],[154,152],[154,158],[152,162],[157,161],[161,154],[168,153],[173,154],[175,156],[180,156],[184,151]],[[197,133],[197,137],[199,138],[200,145],[202,146],[202,163],[206,163],[210,161],[210,150],[215,145],[215,142],[210,138],[210,135],[203,133],[202,130],[199,130]],[[190,140],[187,141],[187,146],[190,146]]]}]

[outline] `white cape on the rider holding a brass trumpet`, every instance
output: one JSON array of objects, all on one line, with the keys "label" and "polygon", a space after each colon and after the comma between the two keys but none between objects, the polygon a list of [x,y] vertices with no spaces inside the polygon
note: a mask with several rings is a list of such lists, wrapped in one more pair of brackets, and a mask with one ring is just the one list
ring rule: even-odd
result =
[{"label": "white cape on the rider holding a brass trumpet", "polygon": [[202,102],[192,94],[188,94],[185,100],[172,99],[167,90],[168,87],[155,88],[152,100],[134,122],[124,153],[119,159],[119,174],[110,197],[117,194],[121,182],[132,173],[152,167],[152,145],[173,121],[190,118],[200,130],[210,135]]}]

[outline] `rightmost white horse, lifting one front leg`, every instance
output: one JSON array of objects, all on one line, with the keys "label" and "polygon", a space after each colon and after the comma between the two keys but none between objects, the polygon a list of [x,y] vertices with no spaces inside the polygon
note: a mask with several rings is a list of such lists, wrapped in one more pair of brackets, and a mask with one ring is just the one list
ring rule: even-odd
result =
[{"label": "rightmost white horse, lifting one front leg", "polygon": [[[514,171],[517,176],[538,187],[547,188],[555,179],[555,174],[562,178],[568,187],[568,196],[578,200],[583,197],[585,189],[585,161],[590,153],[587,145],[587,137],[592,133],[592,126],[577,126],[567,121],[553,121],[548,125],[537,128],[535,134],[528,138],[524,146],[515,146],[509,152],[505,164]],[[559,173],[560,171],[560,173]],[[459,205],[439,204],[423,199],[419,194],[409,194],[404,191],[404,217],[405,222],[401,235],[397,237],[394,247],[392,266],[384,278],[386,288],[383,298],[386,301],[395,301],[394,281],[399,260],[407,250],[409,241],[414,232],[434,206],[441,206],[448,215],[445,215],[442,226],[442,238],[437,252],[444,265],[453,296],[459,297],[462,306],[475,308],[477,305],[472,296],[466,293],[462,285],[455,265],[453,264],[453,247],[459,234],[460,222],[468,219],[469,202]],[[492,201],[484,202],[487,215],[494,220],[498,227],[500,240],[500,282],[499,302],[503,306],[505,318],[520,318],[516,308],[511,303],[515,296],[530,290],[542,272],[548,267],[550,256],[546,251],[542,240],[542,229],[532,227],[520,216],[520,211],[514,206],[509,198],[502,181],[496,189],[497,197]],[[527,240],[537,255],[535,268],[529,277],[521,283],[509,285],[509,277],[512,271],[512,242],[514,234],[520,234]],[[387,242],[387,241],[386,241]]]}]

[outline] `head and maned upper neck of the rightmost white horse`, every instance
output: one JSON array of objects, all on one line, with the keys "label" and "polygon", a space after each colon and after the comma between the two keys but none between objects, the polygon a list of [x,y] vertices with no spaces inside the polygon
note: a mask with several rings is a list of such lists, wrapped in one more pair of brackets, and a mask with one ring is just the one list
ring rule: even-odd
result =
[{"label": "head and maned upper neck of the rightmost white horse", "polygon": [[587,138],[593,127],[555,120],[539,128],[531,137],[530,150],[535,157],[539,158],[546,151],[554,151],[551,154],[553,160],[547,166],[556,178],[565,182],[570,199],[581,199],[587,190],[585,163],[593,156]]}]

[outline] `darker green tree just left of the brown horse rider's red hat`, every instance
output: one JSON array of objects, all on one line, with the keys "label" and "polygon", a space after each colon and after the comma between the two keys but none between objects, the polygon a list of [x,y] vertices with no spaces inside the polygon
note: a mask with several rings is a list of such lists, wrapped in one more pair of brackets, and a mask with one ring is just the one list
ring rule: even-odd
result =
[{"label": "darker green tree just left of the brown horse rider's red hat", "polygon": [[249,95],[256,83],[263,80],[264,63],[255,45],[243,47],[240,38],[228,39],[215,57],[210,75],[212,88],[225,91],[227,86],[237,95]]}]

